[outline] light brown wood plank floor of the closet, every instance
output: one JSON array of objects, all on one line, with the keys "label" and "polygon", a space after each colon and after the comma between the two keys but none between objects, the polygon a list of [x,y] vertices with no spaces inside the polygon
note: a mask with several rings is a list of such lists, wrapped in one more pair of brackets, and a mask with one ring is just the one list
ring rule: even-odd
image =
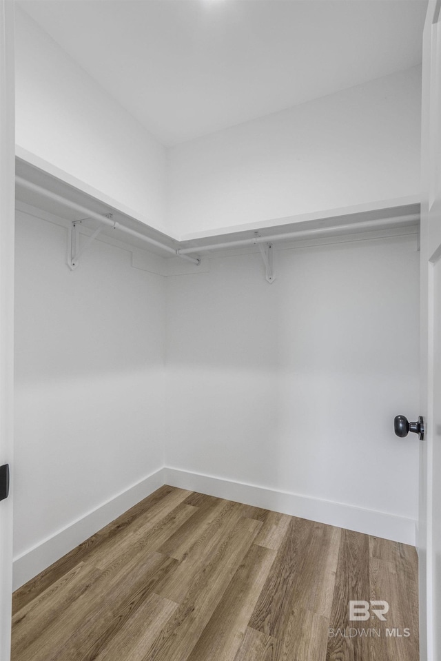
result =
[{"label": "light brown wood plank floor of the closet", "polygon": [[161,487],[14,593],[12,661],[418,661],[417,573],[413,547]]}]

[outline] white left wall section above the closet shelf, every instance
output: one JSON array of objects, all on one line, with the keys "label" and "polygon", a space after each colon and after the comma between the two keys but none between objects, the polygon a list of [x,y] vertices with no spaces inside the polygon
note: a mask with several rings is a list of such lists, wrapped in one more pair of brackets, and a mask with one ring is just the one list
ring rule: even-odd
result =
[{"label": "white left wall section above the closet shelf", "polygon": [[163,230],[163,145],[19,7],[16,35],[17,145]]}]

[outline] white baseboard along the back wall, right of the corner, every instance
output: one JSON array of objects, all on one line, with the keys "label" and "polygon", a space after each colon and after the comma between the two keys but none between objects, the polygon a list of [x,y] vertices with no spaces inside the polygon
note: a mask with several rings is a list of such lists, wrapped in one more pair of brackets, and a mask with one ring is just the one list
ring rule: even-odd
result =
[{"label": "white baseboard along the back wall, right of the corner", "polygon": [[299,516],[311,521],[347,528],[367,535],[393,540],[394,542],[416,545],[416,522],[402,516],[343,505],[340,502],[332,502],[331,500],[320,500],[290,494],[285,491],[275,491],[241,482],[230,482],[229,480],[170,467],[165,467],[164,478],[165,484],[171,487],[192,489],[192,491],[200,491],[209,496],[236,500],[237,502],[244,502],[246,505],[272,509],[291,516]]}]

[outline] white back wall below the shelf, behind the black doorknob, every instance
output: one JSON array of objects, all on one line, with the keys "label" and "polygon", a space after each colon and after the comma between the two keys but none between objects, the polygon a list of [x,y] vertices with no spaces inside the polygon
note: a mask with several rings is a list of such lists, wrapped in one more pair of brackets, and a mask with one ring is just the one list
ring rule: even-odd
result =
[{"label": "white back wall below the shelf, behind the black doorknob", "polygon": [[276,257],[167,279],[166,465],[416,520],[415,236]]}]

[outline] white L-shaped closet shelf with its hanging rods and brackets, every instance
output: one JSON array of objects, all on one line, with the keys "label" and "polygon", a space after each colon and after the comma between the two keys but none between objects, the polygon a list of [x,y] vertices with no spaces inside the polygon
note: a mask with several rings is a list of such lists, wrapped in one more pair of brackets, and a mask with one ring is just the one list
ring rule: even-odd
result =
[{"label": "white L-shaped closet shelf with its hanging rods and brackets", "polygon": [[[85,247],[103,232],[162,256],[178,256],[194,265],[198,265],[203,254],[255,245],[263,256],[267,281],[271,283],[275,278],[271,261],[274,244],[416,227],[420,221],[420,203],[415,196],[409,196],[302,216],[276,218],[268,221],[267,225],[245,225],[240,230],[214,230],[212,234],[204,232],[204,236],[192,235],[191,238],[183,237],[183,241],[178,241],[130,213],[121,211],[121,208],[81,190],[72,182],[59,179],[54,172],[41,170],[34,162],[24,160],[23,156],[26,154],[17,158],[17,197],[71,221],[69,266],[72,270],[78,265],[79,256]],[[80,247],[82,226],[87,226],[93,234]],[[121,234],[124,236],[121,237]]]}]

